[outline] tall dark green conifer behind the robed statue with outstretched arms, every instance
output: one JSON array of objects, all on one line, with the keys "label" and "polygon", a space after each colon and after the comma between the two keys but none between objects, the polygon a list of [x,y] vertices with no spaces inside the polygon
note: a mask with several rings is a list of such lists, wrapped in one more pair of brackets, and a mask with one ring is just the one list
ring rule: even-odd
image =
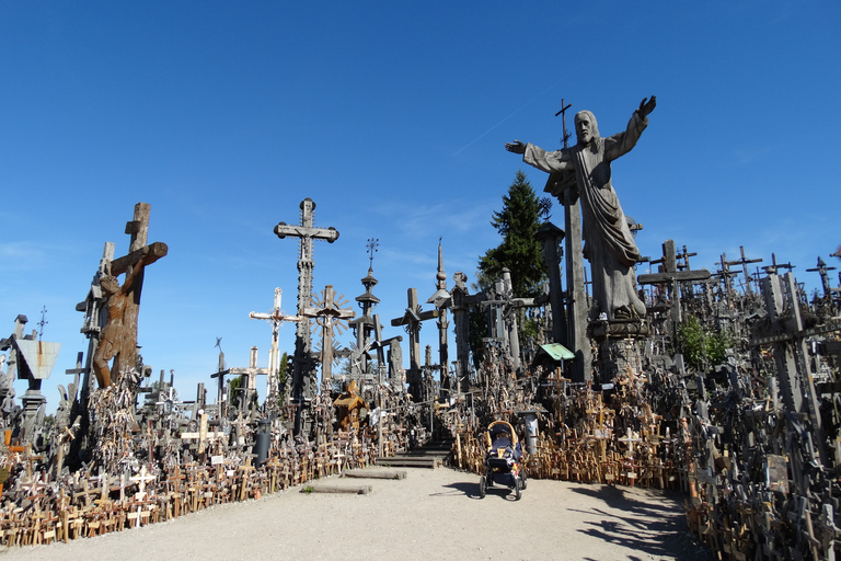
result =
[{"label": "tall dark green conifer behind the robed statue with outstretched arms", "polygon": [[508,194],[503,196],[503,209],[494,211],[491,225],[503,237],[503,242],[487,250],[479,262],[479,286],[486,288],[503,276],[503,268],[511,273],[514,296],[537,297],[546,279],[540,242],[534,238],[541,226],[543,206],[526,174],[517,172]]}]

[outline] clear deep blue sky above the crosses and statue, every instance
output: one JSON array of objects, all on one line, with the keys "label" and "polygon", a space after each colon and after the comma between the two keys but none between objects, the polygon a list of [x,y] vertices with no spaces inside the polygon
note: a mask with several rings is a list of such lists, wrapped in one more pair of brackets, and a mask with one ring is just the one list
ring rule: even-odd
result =
[{"label": "clear deep blue sky above the crosses and statue", "polygon": [[141,352],[189,397],[216,337],[230,366],[252,345],[265,364],[270,328],[247,314],[276,286],[295,311],[298,245],[273,228],[304,197],[341,233],[316,243],[316,290],[362,294],[379,239],[387,336],[407,288],[435,291],[439,238],[448,286],[473,280],[517,170],[545,183],[503,146],[558,148],[562,99],[610,135],[657,95],[613,168],[643,254],[671,238],[713,270],[744,245],[809,287],[818,255],[841,265],[838,2],[3,0],[0,14],[0,336],[19,313],[36,329],[46,306],[44,340],[64,345],[50,410],[87,350],[74,306],[104,243],[126,252],[136,203],[170,248],[146,274]]}]

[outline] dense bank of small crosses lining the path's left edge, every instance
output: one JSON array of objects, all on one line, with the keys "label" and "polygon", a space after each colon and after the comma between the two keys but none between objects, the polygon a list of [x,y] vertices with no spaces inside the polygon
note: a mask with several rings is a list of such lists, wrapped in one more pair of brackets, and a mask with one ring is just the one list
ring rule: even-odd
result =
[{"label": "dense bank of small crosses lining the path's left edge", "polygon": [[[12,431],[5,431],[5,443],[0,446],[4,481],[0,542],[67,541],[169,520],[370,466],[378,456],[410,446],[407,431],[400,423],[401,416],[412,416],[407,408],[391,419],[384,416],[384,450],[369,424],[344,430],[336,425],[335,431],[331,424],[329,432],[310,440],[292,438],[281,420],[253,424],[241,414],[215,431],[208,426],[208,412],[200,411],[197,432],[189,431],[191,421],[184,417],[164,424],[184,430],[155,430],[151,421],[142,428],[133,409],[137,391],[131,388],[139,378],[131,370],[92,392],[89,417],[96,446],[91,461],[80,469],[58,469],[59,453],[37,454],[32,443],[12,445]],[[331,414],[334,409],[330,399],[315,404],[319,408],[330,409]],[[253,454],[262,436],[268,443],[264,458]],[[72,440],[57,442],[66,450]]]}]

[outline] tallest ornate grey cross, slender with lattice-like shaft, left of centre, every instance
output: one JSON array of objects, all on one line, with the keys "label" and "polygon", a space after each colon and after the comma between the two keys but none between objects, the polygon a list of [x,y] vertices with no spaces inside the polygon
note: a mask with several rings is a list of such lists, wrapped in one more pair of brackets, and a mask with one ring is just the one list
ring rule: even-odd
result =
[{"label": "tallest ornate grey cross, slender with lattice-like shaft, left of centre", "polygon": [[[281,240],[287,236],[299,238],[298,255],[298,316],[302,316],[303,309],[312,301],[312,270],[315,266],[312,261],[312,241],[327,240],[333,243],[338,239],[338,230],[333,228],[315,228],[312,225],[312,213],[315,203],[310,197],[301,201],[301,225],[289,226],[279,222],[275,226],[275,233]],[[292,373],[292,400],[296,409],[295,434],[301,434],[301,409],[304,401],[313,397],[313,360],[312,339],[310,337],[310,319],[301,317],[298,322],[295,336],[295,360]]]}]

